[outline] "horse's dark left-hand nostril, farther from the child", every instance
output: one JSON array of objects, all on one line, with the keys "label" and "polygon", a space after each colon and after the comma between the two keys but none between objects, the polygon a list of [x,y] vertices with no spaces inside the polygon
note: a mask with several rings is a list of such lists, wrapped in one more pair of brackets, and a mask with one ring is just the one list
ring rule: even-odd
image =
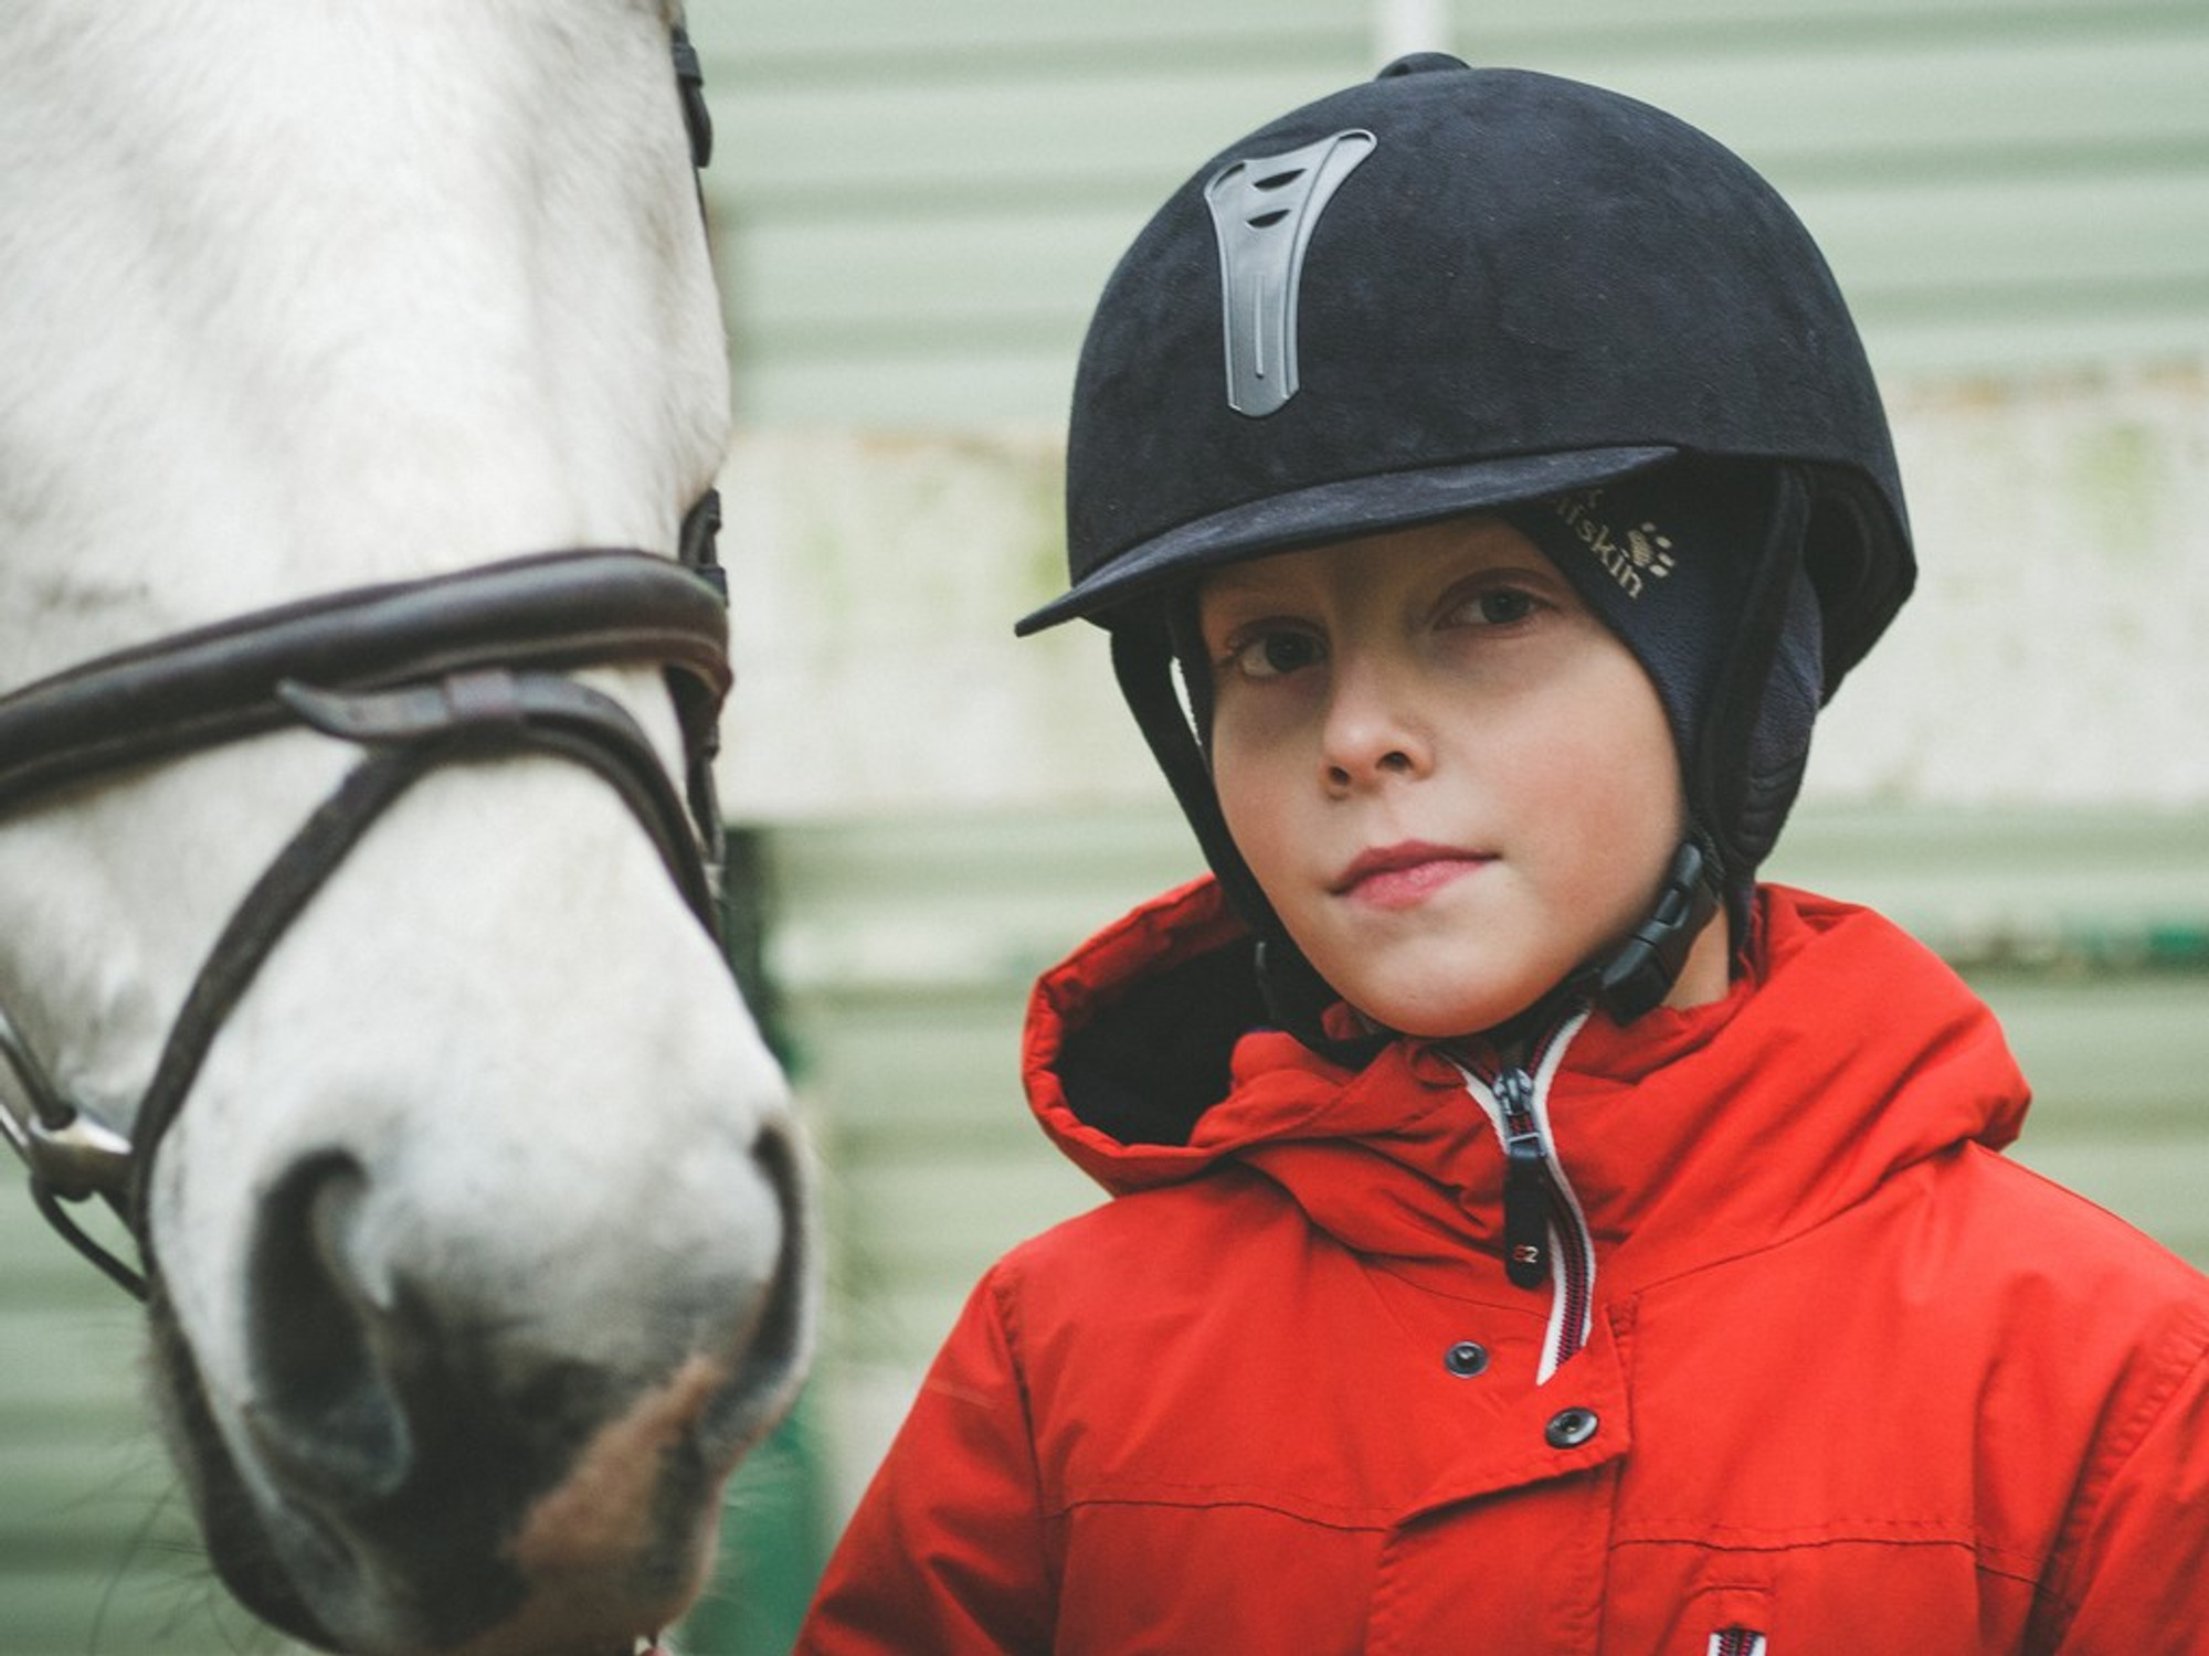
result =
[{"label": "horse's dark left-hand nostril, farther from the child", "polygon": [[347,1263],[367,1175],[345,1155],[292,1168],[263,1206],[247,1281],[254,1402],[274,1468],[342,1506],[404,1484],[413,1440],[382,1360],[391,1309]]}]

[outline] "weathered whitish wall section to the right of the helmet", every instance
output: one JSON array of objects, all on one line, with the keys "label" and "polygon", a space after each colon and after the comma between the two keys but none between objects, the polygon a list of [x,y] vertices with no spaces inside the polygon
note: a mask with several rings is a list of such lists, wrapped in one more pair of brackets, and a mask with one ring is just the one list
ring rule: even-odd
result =
[{"label": "weathered whitish wall section to the right of the helmet", "polygon": [[1895,397],[1922,585],[1814,797],[2209,804],[2205,364]]}]

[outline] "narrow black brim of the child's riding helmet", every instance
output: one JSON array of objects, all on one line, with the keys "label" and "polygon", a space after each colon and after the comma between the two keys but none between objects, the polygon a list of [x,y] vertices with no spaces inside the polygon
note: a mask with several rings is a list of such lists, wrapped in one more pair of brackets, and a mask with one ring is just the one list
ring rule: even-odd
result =
[{"label": "narrow black brim of the child's riding helmet", "polygon": [[1087,581],[1023,616],[1014,631],[1025,638],[1076,618],[1109,627],[1129,605],[1228,563],[1595,488],[1677,455],[1659,446],[1502,455],[1268,495],[1177,523],[1107,559]]}]

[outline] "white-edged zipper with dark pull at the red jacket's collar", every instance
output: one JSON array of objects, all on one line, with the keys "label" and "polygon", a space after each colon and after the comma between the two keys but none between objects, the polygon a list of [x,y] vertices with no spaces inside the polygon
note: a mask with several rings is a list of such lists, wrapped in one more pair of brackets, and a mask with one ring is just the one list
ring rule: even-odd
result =
[{"label": "white-edged zipper with dark pull at the red jacket's collar", "polygon": [[1588,1342],[1595,1305],[1595,1248],[1549,1130],[1549,1084],[1586,1020],[1579,1013],[1542,1042],[1502,1051],[1489,1078],[1458,1064],[1504,1153],[1504,1274],[1518,1287],[1553,1285],[1537,1382]]}]

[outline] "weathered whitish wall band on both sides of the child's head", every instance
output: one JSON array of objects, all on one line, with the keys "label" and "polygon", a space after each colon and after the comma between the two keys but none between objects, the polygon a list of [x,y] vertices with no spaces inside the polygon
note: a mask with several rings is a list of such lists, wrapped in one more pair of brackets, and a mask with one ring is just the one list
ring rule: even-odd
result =
[{"label": "weathered whitish wall band on both sides of the child's head", "polygon": [[[1807,797],[2209,806],[2209,367],[1889,397],[1922,581]],[[1058,464],[1049,435],[738,442],[733,817],[1162,797],[1102,636],[1012,638],[1065,578]]]}]

